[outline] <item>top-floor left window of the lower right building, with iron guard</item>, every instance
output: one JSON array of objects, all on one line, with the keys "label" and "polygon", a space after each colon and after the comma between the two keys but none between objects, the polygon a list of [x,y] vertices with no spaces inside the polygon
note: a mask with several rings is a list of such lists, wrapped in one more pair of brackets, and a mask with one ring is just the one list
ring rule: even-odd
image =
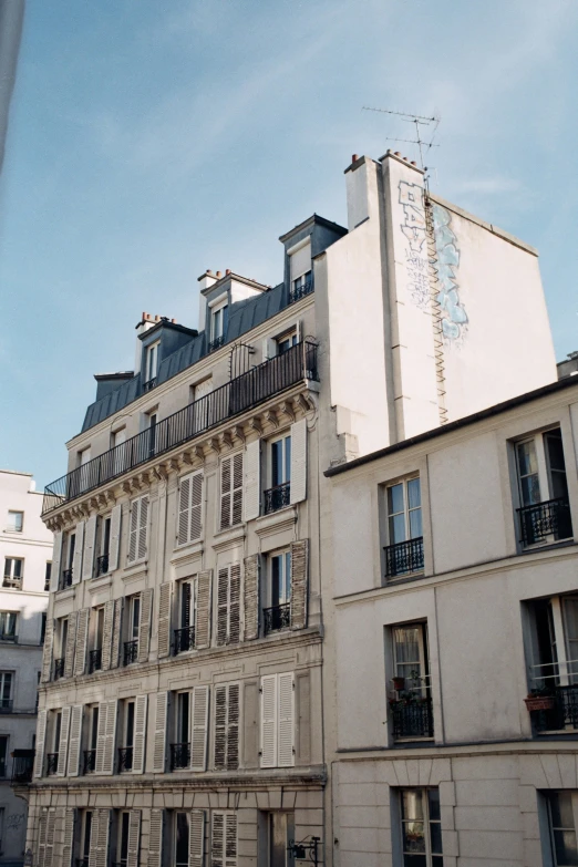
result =
[{"label": "top-floor left window of the lower right building, with iron guard", "polygon": [[409,478],[385,489],[385,578],[423,570],[422,496],[420,478]]}]

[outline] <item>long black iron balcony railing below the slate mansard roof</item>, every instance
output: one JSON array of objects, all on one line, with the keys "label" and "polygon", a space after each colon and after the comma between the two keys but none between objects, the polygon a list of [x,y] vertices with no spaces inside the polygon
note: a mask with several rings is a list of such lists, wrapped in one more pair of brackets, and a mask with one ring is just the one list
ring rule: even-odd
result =
[{"label": "long black iron balcony railing below the slate mansard roof", "polygon": [[158,422],[154,432],[136,436],[93,457],[44,488],[42,514],[100,487],[153,457],[165,454],[227,419],[268,400],[301,380],[318,380],[317,344],[305,340],[281,355],[256,368],[189,403]]}]

